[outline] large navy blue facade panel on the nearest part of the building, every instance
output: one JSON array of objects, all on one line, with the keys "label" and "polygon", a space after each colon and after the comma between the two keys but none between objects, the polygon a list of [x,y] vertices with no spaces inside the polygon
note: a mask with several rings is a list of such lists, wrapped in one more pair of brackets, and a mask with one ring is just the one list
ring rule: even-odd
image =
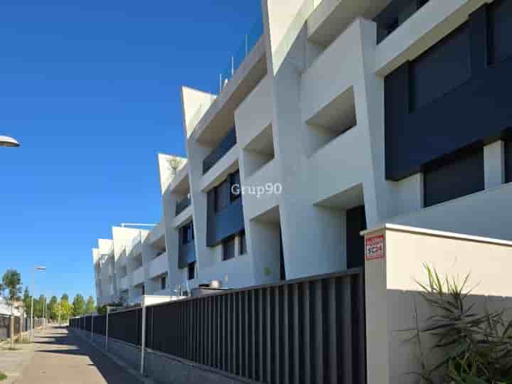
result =
[{"label": "large navy blue facade panel on the nearest part of the building", "polygon": [[436,46],[386,76],[388,180],[398,181],[461,149],[506,137],[512,127],[512,56],[493,63],[492,52],[508,44],[511,34],[506,31],[512,26],[491,28],[498,10],[501,20],[512,15],[512,1],[505,3],[477,9]]}]

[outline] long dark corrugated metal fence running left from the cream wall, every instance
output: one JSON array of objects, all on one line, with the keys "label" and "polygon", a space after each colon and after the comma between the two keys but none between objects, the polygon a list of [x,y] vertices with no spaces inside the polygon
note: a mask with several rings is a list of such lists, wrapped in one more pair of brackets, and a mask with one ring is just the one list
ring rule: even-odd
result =
[{"label": "long dark corrugated metal fence running left from the cream wall", "polygon": [[[108,329],[140,345],[142,309]],[[252,380],[366,383],[363,269],[148,306],[145,332],[146,348]]]}]

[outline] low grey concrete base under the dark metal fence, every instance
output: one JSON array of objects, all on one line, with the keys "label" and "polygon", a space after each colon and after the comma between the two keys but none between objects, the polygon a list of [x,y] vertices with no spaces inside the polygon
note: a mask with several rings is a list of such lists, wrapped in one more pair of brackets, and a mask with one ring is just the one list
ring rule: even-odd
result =
[{"label": "low grey concrete base under the dark metal fence", "polygon": [[[105,336],[93,334],[90,331],[69,329],[83,338],[85,341],[95,344],[105,351]],[[108,339],[108,353],[125,363],[129,368],[139,370],[141,348],[114,338]],[[175,356],[152,351],[146,348],[144,353],[144,376],[155,383],[172,384],[253,384],[252,380],[240,378],[230,373],[201,366],[191,361],[186,361]]]}]

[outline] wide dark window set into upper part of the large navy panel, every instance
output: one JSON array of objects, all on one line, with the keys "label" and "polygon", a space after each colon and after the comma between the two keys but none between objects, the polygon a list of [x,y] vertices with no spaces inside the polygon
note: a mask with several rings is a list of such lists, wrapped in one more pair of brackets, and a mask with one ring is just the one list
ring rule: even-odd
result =
[{"label": "wide dark window set into upper part of the large navy panel", "polygon": [[442,97],[469,79],[468,31],[467,26],[462,26],[411,63],[412,110]]}]

